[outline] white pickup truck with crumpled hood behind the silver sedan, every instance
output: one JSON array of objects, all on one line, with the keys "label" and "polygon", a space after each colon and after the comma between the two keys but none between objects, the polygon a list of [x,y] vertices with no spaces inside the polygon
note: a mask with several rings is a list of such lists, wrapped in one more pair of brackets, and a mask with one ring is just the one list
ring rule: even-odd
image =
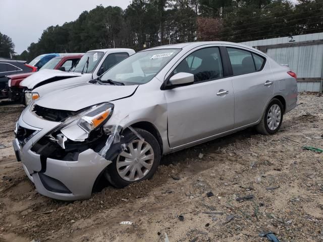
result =
[{"label": "white pickup truck with crumpled hood behind the silver sedan", "polygon": [[86,52],[71,72],[43,70],[20,83],[25,87],[25,104],[48,92],[72,87],[96,79],[123,59],[134,54],[133,49],[96,49]]}]

